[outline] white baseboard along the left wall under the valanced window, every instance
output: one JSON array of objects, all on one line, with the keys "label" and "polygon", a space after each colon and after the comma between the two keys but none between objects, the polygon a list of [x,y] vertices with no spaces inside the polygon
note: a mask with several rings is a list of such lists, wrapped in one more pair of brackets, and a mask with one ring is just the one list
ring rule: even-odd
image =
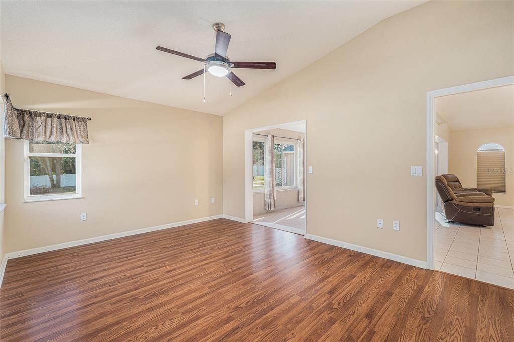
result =
[{"label": "white baseboard along the left wall under the valanced window", "polygon": [[89,244],[89,243],[95,243],[95,242],[100,242],[100,241],[105,241],[105,240],[118,239],[118,238],[122,238],[122,237],[125,237],[125,236],[131,236],[131,235],[137,235],[137,234],[148,233],[148,232],[153,232],[153,231],[159,231],[159,230],[162,230],[162,229],[175,228],[175,227],[179,227],[179,226],[186,225],[186,224],[210,221],[210,220],[214,220],[214,219],[218,219],[218,218],[222,218],[222,217],[223,217],[223,215],[221,215],[221,214],[214,215],[214,216],[200,217],[200,218],[192,219],[192,220],[179,221],[179,222],[173,222],[173,223],[167,223],[167,224],[161,224],[161,225],[155,225],[153,227],[146,227],[146,228],[136,229],[136,230],[132,230],[132,231],[126,231],[126,232],[120,232],[120,233],[115,233],[115,234],[102,235],[102,236],[97,236],[97,237],[93,237],[93,238],[87,238],[87,239],[83,239],[83,240],[76,240],[76,241],[52,244],[52,245],[49,245],[49,246],[32,248],[32,249],[29,249],[29,250],[10,252],[10,253],[6,253],[4,259],[6,259],[6,262],[7,262],[8,259],[20,258],[20,257],[28,256],[28,255],[39,254],[39,253],[50,252],[50,251],[57,251],[57,250],[65,249],[65,248],[80,246],[80,245],[83,245],[83,244]]}]

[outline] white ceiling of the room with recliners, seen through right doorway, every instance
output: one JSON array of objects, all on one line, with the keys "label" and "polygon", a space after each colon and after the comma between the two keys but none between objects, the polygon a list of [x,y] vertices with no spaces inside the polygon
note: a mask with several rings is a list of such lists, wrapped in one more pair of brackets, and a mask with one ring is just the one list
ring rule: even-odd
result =
[{"label": "white ceiling of the room with recliners, seen through right doorway", "polygon": [[514,126],[514,85],[436,98],[435,109],[450,130]]}]

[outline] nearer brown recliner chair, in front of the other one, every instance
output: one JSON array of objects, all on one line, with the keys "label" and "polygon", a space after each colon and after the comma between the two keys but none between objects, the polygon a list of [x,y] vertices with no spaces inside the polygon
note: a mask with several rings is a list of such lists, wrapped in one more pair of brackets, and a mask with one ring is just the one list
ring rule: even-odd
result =
[{"label": "nearer brown recliner chair, in front of the other one", "polygon": [[443,200],[447,220],[494,225],[494,197],[478,191],[455,194],[443,176],[435,177],[435,187]]}]

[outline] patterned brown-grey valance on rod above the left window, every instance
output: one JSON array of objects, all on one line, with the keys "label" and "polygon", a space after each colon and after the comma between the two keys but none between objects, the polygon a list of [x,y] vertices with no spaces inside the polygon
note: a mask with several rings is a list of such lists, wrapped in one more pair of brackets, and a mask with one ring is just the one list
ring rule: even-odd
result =
[{"label": "patterned brown-grey valance on rod above the left window", "polygon": [[38,110],[17,109],[4,94],[4,137],[32,142],[88,144],[88,118]]}]

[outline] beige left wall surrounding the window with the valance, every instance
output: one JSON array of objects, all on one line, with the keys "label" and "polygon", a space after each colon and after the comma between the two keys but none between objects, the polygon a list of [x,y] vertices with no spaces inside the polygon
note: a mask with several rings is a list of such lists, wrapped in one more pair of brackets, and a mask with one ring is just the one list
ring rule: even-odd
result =
[{"label": "beige left wall surrounding the window with the valance", "polygon": [[16,107],[93,118],[82,199],[23,203],[23,141],[6,140],[6,252],[222,213],[222,117],[10,75],[6,86]]}]

